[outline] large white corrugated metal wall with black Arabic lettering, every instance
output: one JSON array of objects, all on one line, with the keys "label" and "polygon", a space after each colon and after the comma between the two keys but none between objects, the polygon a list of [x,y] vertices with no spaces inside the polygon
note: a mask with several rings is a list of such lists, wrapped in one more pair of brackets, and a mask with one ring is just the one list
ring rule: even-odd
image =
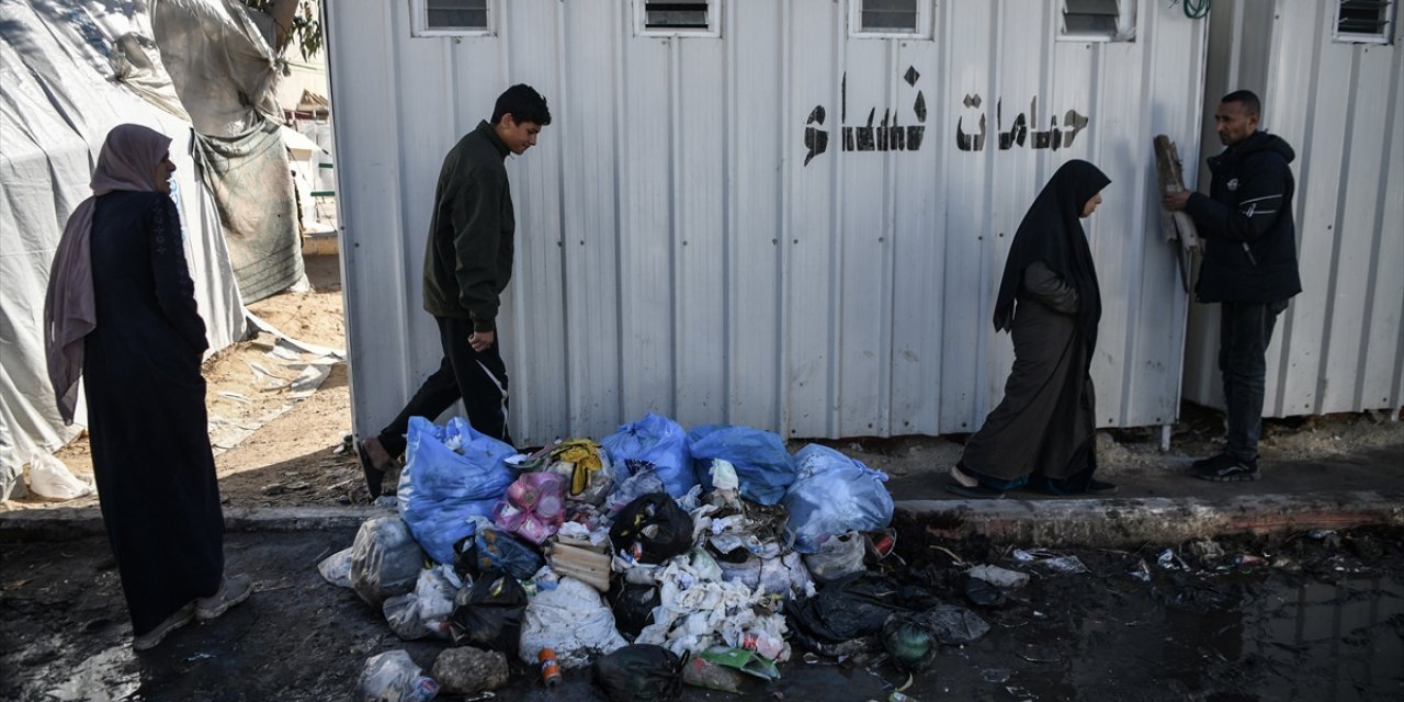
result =
[{"label": "large white corrugated metal wall with black Arabic lettering", "polygon": [[438,362],[420,306],[434,181],[519,81],[555,118],[508,163],[500,323],[524,445],[646,411],[790,437],[972,431],[1012,362],[990,322],[1009,240],[1068,159],[1115,181],[1090,225],[1099,423],[1174,420],[1188,302],[1151,139],[1199,152],[1203,21],[1141,1],[1134,42],[1057,42],[1056,3],[953,0],[932,39],[872,39],[849,37],[845,1],[730,0],[720,38],[670,39],[636,37],[619,0],[493,6],[497,37],[453,39],[411,38],[406,1],[329,4],[361,432]]}]

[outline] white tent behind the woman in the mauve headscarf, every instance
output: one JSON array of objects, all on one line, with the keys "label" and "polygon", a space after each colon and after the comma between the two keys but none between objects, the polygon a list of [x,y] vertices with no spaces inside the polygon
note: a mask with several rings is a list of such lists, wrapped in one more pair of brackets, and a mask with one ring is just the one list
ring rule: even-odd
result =
[{"label": "white tent behind the woman in the mauve headscarf", "polygon": [[[0,497],[24,463],[66,444],[45,371],[41,320],[53,250],[86,198],[108,129],[173,138],[174,195],[211,352],[244,334],[243,303],[192,131],[154,51],[146,3],[0,0]],[[98,263],[101,265],[101,263]],[[153,437],[159,439],[159,437]]]}]

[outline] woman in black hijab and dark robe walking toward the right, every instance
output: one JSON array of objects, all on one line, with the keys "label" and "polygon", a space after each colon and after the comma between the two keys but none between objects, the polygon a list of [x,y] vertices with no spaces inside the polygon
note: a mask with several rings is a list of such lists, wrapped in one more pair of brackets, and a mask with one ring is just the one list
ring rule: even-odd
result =
[{"label": "woman in black hijab and dark robe walking toward the right", "polygon": [[1102,317],[1092,251],[1080,219],[1111,180],[1068,161],[1024,215],[1009,246],[994,329],[1014,337],[1004,400],[966,442],[946,490],[1000,498],[1029,486],[1053,494],[1111,493],[1094,480],[1094,392],[1088,368]]}]

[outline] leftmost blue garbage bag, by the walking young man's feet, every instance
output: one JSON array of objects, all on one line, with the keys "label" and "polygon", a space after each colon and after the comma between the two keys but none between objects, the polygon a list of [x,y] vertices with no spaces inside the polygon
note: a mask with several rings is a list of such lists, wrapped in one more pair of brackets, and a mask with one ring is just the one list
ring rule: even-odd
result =
[{"label": "leftmost blue garbage bag, by the walking young man's feet", "polygon": [[491,519],[493,507],[517,477],[505,462],[517,449],[479,434],[462,417],[444,427],[410,417],[406,438],[396,490],[400,517],[430,557],[452,564],[453,543],[476,531],[469,518]]}]

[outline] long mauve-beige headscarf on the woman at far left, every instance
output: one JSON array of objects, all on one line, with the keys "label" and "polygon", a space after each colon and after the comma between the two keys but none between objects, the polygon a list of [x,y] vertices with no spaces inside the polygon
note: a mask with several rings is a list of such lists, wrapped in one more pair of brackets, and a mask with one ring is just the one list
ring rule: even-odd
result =
[{"label": "long mauve-beige headscarf on the woman at far left", "polygon": [[77,406],[83,338],[97,329],[88,247],[97,198],[118,190],[154,192],[156,166],[166,157],[170,145],[168,136],[142,125],[114,126],[97,157],[90,184],[93,197],[79,204],[63,227],[63,239],[59,239],[49,271],[49,291],[44,298],[44,351],[65,424],[73,424],[73,409]]}]

